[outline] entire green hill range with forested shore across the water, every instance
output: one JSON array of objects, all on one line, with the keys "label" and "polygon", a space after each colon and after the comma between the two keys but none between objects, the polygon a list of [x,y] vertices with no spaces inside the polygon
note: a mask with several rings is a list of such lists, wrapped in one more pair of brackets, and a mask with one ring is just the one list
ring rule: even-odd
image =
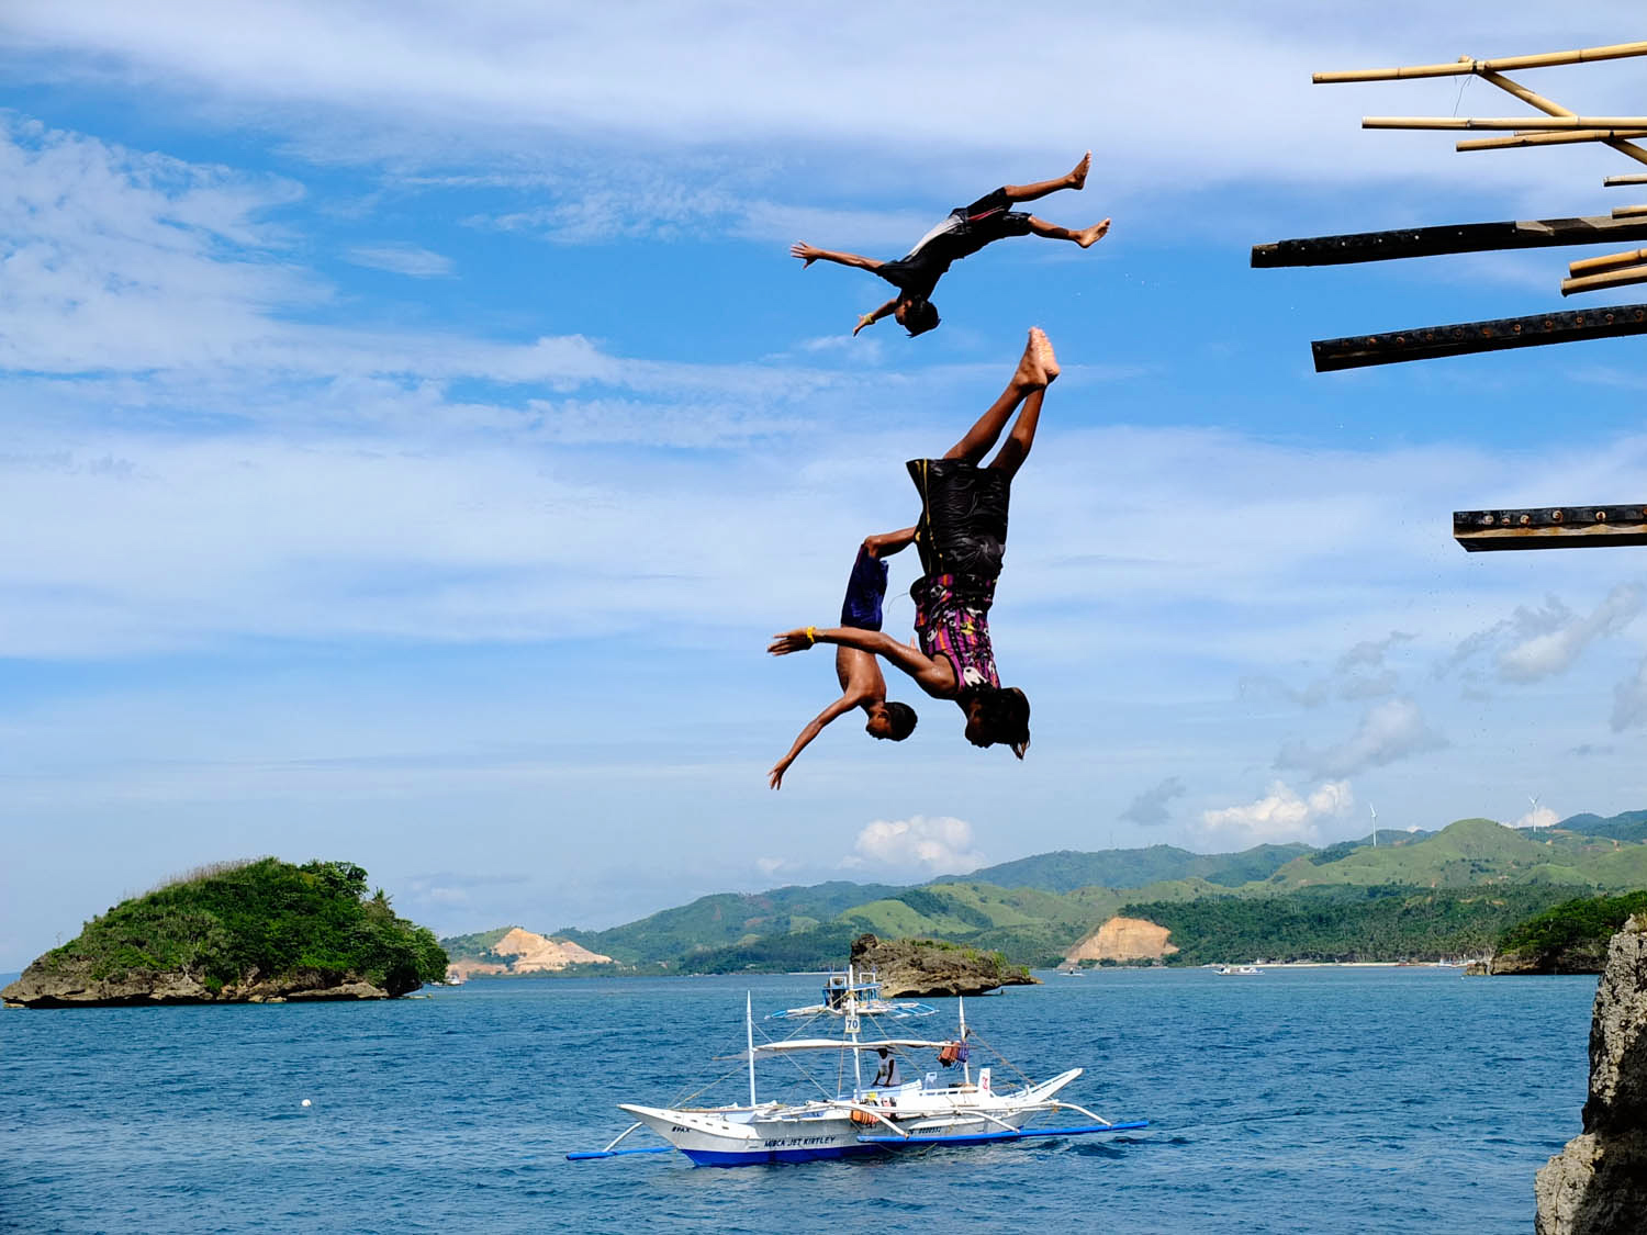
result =
[{"label": "entire green hill range with forested shore across the water", "polygon": [[[863,932],[1051,967],[1118,914],[1166,927],[1178,950],[1159,963],[1171,965],[1479,955],[1563,901],[1647,888],[1647,843],[1632,840],[1647,835],[1647,812],[1571,823],[1532,832],[1467,818],[1433,833],[1380,832],[1377,845],[1367,835],[1224,855],[1171,845],[1043,853],[916,888],[833,881],[723,892],[555,937],[628,973],[827,968]],[[455,957],[481,957],[502,934],[445,942]]]}]

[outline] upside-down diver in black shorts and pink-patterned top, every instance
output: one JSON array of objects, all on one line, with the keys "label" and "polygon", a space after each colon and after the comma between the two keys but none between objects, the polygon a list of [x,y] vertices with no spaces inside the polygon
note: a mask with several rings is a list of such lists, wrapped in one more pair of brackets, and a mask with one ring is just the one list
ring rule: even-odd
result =
[{"label": "upside-down diver in black shorts and pink-patterned top", "polygon": [[[807,626],[772,636],[766,650],[789,655],[814,644],[838,644],[879,655],[927,695],[954,700],[967,716],[965,734],[973,746],[1005,743],[1023,759],[1029,698],[1018,687],[1001,685],[990,642],[990,606],[1006,552],[1011,481],[1029,456],[1041,403],[1057,372],[1051,341],[1039,326],[1031,329],[1013,380],[967,435],[942,459],[909,463],[909,476],[921,489],[914,542],[924,575],[909,591],[919,647],[879,631]],[[1015,413],[995,459],[980,466]]]}]

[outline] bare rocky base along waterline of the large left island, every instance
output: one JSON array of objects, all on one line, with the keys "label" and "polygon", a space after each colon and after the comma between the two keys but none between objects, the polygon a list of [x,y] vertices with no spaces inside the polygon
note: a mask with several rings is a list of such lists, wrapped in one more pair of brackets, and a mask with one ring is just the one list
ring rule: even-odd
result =
[{"label": "bare rocky base along waterline of the large left island", "polygon": [[[287,1000],[389,1000],[405,990],[387,990],[357,975],[298,972],[278,978],[252,975],[212,990],[193,973],[128,972],[94,978],[84,965],[46,965],[36,960],[23,976],[0,991],[18,1008],[132,1008],[156,1003],[285,1003]],[[408,986],[407,990],[417,990]]]}]

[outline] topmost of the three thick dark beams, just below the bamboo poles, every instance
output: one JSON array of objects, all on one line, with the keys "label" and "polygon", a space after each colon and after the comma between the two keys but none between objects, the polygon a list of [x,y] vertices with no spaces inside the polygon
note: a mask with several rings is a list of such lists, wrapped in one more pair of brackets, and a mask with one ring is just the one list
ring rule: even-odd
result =
[{"label": "topmost of the three thick dark beams, just below the bamboo poles", "polygon": [[1443,227],[1402,227],[1390,232],[1309,235],[1298,240],[1255,244],[1252,263],[1260,268],[1295,265],[1347,265],[1390,262],[1398,257],[1484,254],[1494,249],[1551,249],[1566,244],[1606,244],[1647,239],[1647,219],[1509,219],[1505,222],[1454,222]]}]

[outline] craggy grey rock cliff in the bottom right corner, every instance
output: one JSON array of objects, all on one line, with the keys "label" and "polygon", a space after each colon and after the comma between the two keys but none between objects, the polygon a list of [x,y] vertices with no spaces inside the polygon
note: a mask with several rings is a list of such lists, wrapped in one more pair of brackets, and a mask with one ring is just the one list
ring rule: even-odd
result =
[{"label": "craggy grey rock cliff in the bottom right corner", "polygon": [[1589,1026],[1584,1131],[1538,1172],[1538,1235],[1647,1230],[1647,916],[1607,944]]}]

